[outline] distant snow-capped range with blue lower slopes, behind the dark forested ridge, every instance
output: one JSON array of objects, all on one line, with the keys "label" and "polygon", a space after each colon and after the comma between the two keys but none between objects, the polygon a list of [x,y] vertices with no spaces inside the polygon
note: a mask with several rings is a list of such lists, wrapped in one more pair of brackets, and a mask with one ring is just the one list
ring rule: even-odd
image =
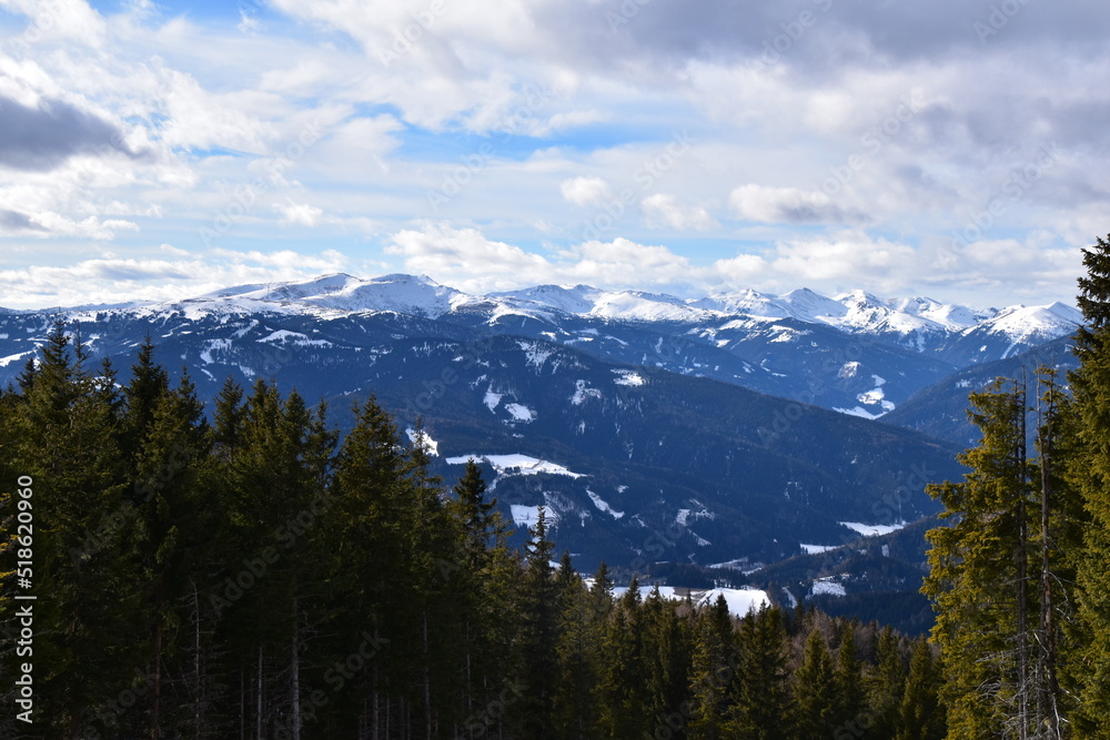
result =
[{"label": "distant snow-capped range with blue lower slopes, behind the dark forested ridge", "polygon": [[[350,337],[325,328],[376,316],[379,323],[406,324],[391,336],[524,336],[575,346],[608,362],[714,378],[866,418],[887,414],[961,368],[1069,336],[1081,321],[1078,311],[1062,303],[972,310],[931,298],[879,298],[864,291],[833,297],[800,288],[784,295],[743,291],[682,298],[587,285],[477,295],[426,276],[366,280],[346,274],[60,313],[84,326],[87,336],[103,335],[94,327],[104,322],[157,323],[163,338],[190,335],[199,343],[194,354],[204,374],[216,369],[209,365],[219,366],[214,357],[234,354],[236,345],[249,342],[340,352]],[[0,314],[21,325],[33,325],[34,316],[43,315]],[[253,338],[245,328],[223,331],[246,317],[270,331]],[[193,325],[198,322],[212,328],[201,332]],[[304,331],[309,324],[311,330]],[[31,330],[0,337],[0,375],[33,354],[41,339],[42,332]],[[238,362],[232,366],[244,377],[266,372]]]}]

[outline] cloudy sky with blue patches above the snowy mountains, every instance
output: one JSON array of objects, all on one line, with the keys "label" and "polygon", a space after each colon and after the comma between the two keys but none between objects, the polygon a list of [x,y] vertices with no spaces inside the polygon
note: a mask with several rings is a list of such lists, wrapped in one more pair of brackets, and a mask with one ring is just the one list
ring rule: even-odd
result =
[{"label": "cloudy sky with blue patches above the snowy mountains", "polygon": [[1071,302],[1104,0],[0,0],[0,306],[346,272]]}]

